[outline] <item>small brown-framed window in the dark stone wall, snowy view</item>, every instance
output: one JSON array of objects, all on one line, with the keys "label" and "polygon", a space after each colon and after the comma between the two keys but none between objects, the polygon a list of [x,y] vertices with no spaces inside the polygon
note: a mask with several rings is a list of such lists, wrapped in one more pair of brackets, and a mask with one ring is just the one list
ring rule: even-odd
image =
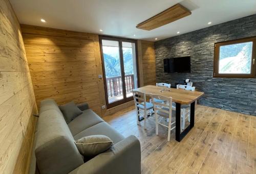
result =
[{"label": "small brown-framed window in the dark stone wall, snowy view", "polygon": [[214,77],[255,77],[256,37],[215,44]]}]

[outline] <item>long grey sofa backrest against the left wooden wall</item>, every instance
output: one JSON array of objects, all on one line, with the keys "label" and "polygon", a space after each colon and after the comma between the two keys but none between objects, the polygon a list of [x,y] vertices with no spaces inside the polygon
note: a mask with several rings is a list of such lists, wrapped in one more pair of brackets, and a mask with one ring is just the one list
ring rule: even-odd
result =
[{"label": "long grey sofa backrest against the left wooden wall", "polygon": [[68,173],[83,164],[65,118],[52,99],[41,101],[36,137],[40,174]]}]

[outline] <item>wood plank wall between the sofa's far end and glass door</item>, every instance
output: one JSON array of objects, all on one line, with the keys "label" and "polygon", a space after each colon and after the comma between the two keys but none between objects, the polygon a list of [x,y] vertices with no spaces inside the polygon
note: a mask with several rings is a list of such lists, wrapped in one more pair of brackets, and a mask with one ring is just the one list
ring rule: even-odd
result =
[{"label": "wood plank wall between the sofa's far end and glass door", "polygon": [[97,34],[21,25],[36,103],[88,102],[103,115],[105,105]]}]

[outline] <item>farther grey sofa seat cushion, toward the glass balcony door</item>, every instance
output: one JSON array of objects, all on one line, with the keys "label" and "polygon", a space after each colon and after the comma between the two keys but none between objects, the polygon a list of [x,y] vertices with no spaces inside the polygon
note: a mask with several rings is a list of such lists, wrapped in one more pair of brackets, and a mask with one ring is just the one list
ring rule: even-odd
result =
[{"label": "farther grey sofa seat cushion, toward the glass balcony door", "polygon": [[83,113],[73,119],[69,124],[69,129],[73,136],[90,128],[94,125],[97,125],[99,122],[103,122],[104,120],[100,118],[95,112],[91,109],[87,109],[83,111]]}]

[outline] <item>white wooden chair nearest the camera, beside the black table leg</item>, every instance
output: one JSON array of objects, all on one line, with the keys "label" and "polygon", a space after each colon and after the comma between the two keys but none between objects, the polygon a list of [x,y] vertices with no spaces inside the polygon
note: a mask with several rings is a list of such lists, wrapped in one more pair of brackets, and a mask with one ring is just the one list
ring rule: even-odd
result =
[{"label": "white wooden chair nearest the camera, beside the black table leg", "polygon": [[[164,101],[163,103],[161,102],[156,102],[156,99]],[[155,110],[155,117],[156,117],[156,134],[158,135],[158,125],[162,125],[166,128],[168,128],[168,136],[167,136],[167,141],[170,141],[170,131],[175,129],[174,122],[172,122],[172,116],[175,116],[175,112],[172,110],[172,97],[166,97],[162,95],[152,95],[152,101],[154,105],[154,110]],[[160,123],[159,119],[160,117],[168,118],[168,126]]]}]

